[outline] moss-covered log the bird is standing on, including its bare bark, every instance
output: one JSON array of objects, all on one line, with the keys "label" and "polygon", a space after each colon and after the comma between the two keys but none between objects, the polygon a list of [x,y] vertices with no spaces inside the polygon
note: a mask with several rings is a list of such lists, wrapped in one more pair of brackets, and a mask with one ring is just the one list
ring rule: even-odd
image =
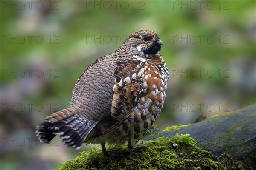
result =
[{"label": "moss-covered log the bird is standing on, including its bare bark", "polygon": [[143,151],[124,145],[108,155],[93,147],[57,169],[255,170],[256,105],[191,125],[167,127],[148,135],[143,145],[147,147]]}]

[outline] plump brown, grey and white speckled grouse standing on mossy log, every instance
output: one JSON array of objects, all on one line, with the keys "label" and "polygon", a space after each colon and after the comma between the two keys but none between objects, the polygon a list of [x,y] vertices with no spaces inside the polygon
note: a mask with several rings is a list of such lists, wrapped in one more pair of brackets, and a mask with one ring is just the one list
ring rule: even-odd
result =
[{"label": "plump brown, grey and white speckled grouse standing on mossy log", "polygon": [[151,30],[130,34],[120,47],[91,63],[78,78],[70,105],[36,127],[49,143],[59,135],[68,147],[126,144],[131,150],[163,108],[168,68],[160,54],[163,42]]}]

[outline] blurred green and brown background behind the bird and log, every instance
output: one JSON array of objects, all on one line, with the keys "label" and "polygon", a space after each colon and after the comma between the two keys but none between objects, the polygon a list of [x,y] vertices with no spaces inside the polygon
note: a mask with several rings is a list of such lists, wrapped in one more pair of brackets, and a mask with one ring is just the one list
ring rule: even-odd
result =
[{"label": "blurred green and brown background behind the bird and log", "polygon": [[256,1],[4,1],[0,3],[0,169],[54,169],[82,150],[35,126],[69,105],[85,68],[134,31],[151,29],[169,68],[157,127],[193,123],[256,102]]}]

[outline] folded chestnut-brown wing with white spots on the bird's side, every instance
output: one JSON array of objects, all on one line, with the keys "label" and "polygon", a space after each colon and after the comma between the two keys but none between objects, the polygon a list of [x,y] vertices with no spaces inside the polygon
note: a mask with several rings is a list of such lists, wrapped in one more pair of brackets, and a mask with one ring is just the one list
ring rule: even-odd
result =
[{"label": "folded chestnut-brown wing with white spots on the bird's side", "polygon": [[111,106],[113,119],[122,121],[137,106],[143,94],[144,67],[144,62],[134,59],[123,60],[116,64]]}]

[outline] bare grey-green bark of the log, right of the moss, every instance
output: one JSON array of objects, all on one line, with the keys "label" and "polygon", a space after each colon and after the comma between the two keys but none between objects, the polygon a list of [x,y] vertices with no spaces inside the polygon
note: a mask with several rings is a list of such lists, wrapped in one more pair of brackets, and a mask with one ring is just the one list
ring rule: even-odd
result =
[{"label": "bare grey-green bark of the log, right of the moss", "polygon": [[171,131],[159,131],[144,140],[157,137],[190,134],[197,145],[216,156],[229,154],[235,160],[247,156],[256,159],[256,104],[236,111],[222,113],[187,127]]}]

